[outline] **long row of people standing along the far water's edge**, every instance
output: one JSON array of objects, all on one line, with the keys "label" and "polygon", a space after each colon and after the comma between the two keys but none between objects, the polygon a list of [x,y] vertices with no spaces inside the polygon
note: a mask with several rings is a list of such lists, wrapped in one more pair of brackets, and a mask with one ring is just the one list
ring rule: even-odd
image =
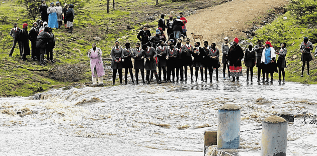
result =
[{"label": "long row of people standing along the far water's edge", "polygon": [[[162,31],[160,31],[160,29],[157,29],[156,35],[161,35],[160,32]],[[207,82],[208,70],[209,81],[212,82],[214,69],[216,72],[215,81],[218,81],[220,51],[216,48],[216,44],[212,43],[211,45],[208,45],[208,42],[204,41],[203,47],[200,47],[200,42],[195,42],[194,46],[192,46],[190,44],[189,38],[187,38],[185,41],[185,45],[182,44],[182,39],[180,38],[177,39],[176,43],[172,42],[171,40],[168,40],[167,42],[159,40],[159,42],[157,42],[157,45],[155,45],[154,43],[150,43],[151,46],[149,46],[148,44],[136,43],[134,49],[131,48],[130,43],[125,43],[125,47],[122,48],[120,46],[120,43],[116,41],[115,46],[111,50],[111,68],[113,69],[112,84],[115,84],[117,73],[119,74],[120,84],[122,84],[123,68],[125,69],[125,84],[128,84],[128,72],[131,76],[132,84],[139,84],[139,71],[141,72],[143,84],[149,84],[151,81],[153,81],[152,77],[150,77],[151,73],[155,76],[157,84],[161,84],[162,82],[187,82],[188,67],[190,69],[191,82],[194,82],[194,67],[196,82],[198,80],[199,71],[201,75],[201,81]],[[269,82],[270,80],[270,82],[272,83],[274,72],[279,73],[279,81],[285,81],[285,57],[287,54],[286,43],[281,43],[281,49],[275,50],[269,41],[266,41],[265,45],[262,45],[262,41],[258,40],[257,45],[255,45],[254,47],[252,45],[249,45],[244,52],[242,47],[239,45],[239,39],[234,38],[233,41],[233,44],[230,45],[228,43],[228,38],[226,37],[224,38],[224,43],[221,46],[221,51],[223,53],[223,79],[231,79],[232,82],[239,81],[239,77],[243,76],[242,60],[244,58],[243,64],[245,64],[245,66],[247,67],[247,81],[249,81],[249,71],[251,73],[250,81],[253,81],[254,66],[257,66],[258,68],[258,82],[261,82],[261,70],[263,74],[263,82]],[[304,38],[304,41],[301,43],[300,50],[302,52],[301,61],[303,61],[302,72],[304,70],[304,65],[307,64],[307,75],[309,75],[309,61],[312,60],[310,51],[313,50],[313,47],[312,44],[308,41],[308,38]],[[94,43],[93,48],[90,49],[88,53],[88,56],[91,59],[93,85],[97,84],[97,78],[99,80],[99,83],[102,83],[104,68],[102,65],[101,54],[101,49],[97,48],[96,44]],[[276,56],[278,56],[277,61]],[[132,58],[134,59],[134,65],[132,63]],[[135,69],[136,83],[134,83],[134,76],[132,73],[133,67]],[[159,69],[159,72],[156,71],[156,67]],[[227,78],[225,77],[226,68],[228,70]],[[146,75],[144,75],[144,69],[146,70]],[[283,77],[282,80],[281,76]]]}]

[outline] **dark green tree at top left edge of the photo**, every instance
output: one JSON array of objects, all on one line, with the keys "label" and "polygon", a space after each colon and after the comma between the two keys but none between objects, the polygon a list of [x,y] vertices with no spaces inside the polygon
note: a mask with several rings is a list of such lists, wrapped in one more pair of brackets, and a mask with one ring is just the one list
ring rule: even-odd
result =
[{"label": "dark green tree at top left edge of the photo", "polygon": [[41,1],[38,0],[18,0],[17,4],[23,5],[28,12],[27,16],[32,17],[35,20],[36,16],[39,14],[39,8],[41,6]]}]

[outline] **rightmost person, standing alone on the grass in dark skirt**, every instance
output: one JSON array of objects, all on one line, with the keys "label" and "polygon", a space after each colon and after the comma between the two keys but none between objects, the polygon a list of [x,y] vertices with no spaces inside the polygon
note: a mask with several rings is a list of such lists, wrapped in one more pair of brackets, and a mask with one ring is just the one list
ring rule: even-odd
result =
[{"label": "rightmost person, standing alone on the grass in dark skirt", "polygon": [[312,60],[312,56],[310,54],[310,50],[313,50],[312,43],[308,41],[307,37],[304,37],[304,41],[301,42],[299,50],[301,51],[300,60],[303,62],[301,66],[301,75],[303,77],[303,72],[305,68],[305,63],[307,62],[307,75],[309,75],[309,62]]}]

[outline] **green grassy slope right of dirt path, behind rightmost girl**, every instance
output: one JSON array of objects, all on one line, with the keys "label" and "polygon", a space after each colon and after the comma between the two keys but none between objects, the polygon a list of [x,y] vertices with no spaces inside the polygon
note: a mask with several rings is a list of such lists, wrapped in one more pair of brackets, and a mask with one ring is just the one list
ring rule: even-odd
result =
[{"label": "green grassy slope right of dirt path, behind rightmost girl", "polygon": [[[287,18],[287,20],[284,19]],[[310,75],[307,76],[307,66],[305,65],[304,77],[301,75],[302,62],[300,61],[301,52],[299,50],[300,43],[303,37],[308,37],[315,46],[316,43],[316,29],[308,29],[307,25],[299,25],[289,12],[283,16],[278,17],[274,22],[257,30],[256,36],[253,38],[253,43],[257,44],[257,40],[267,39],[272,41],[275,49],[280,50],[280,44],[285,42],[287,44],[287,68],[285,68],[285,80],[291,82],[299,82],[302,84],[317,84],[317,58],[313,56],[310,61]],[[314,48],[315,50],[315,48]],[[278,79],[278,74],[274,74],[274,78]]]}]

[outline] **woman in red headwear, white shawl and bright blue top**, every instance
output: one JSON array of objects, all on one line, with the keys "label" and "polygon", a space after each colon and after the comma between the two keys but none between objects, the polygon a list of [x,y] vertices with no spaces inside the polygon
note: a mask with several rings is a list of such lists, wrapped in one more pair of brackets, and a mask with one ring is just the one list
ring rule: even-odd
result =
[{"label": "woman in red headwear, white shawl and bright blue top", "polygon": [[276,66],[276,55],[275,50],[272,47],[271,42],[266,41],[265,42],[265,48],[263,49],[263,54],[261,57],[261,66],[265,72],[266,75],[266,81],[269,82],[269,73],[271,75],[271,83],[273,83],[273,73],[274,71],[277,72],[277,66]]}]

